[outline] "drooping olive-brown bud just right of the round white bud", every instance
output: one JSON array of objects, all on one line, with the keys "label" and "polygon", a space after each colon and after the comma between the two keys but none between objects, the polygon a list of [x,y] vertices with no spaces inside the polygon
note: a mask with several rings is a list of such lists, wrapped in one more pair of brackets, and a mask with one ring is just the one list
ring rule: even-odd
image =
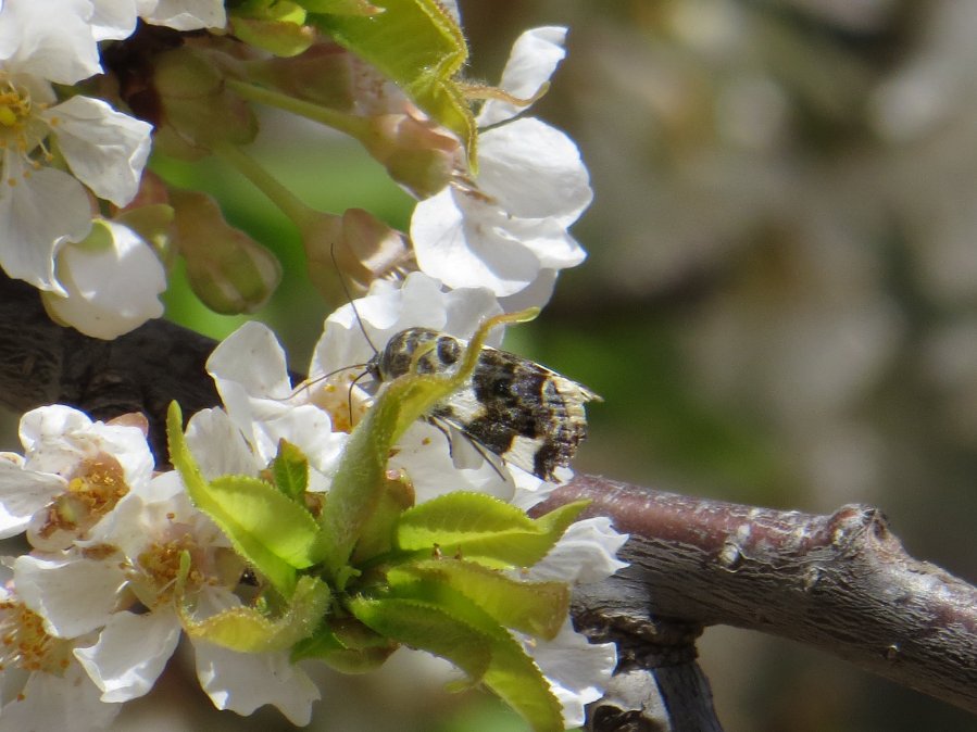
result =
[{"label": "drooping olive-brown bud just right of the round white bud", "polygon": [[173,243],[187,262],[190,286],[216,313],[253,313],[281,279],[275,255],[221,214],[206,193],[171,191],[176,212]]}]

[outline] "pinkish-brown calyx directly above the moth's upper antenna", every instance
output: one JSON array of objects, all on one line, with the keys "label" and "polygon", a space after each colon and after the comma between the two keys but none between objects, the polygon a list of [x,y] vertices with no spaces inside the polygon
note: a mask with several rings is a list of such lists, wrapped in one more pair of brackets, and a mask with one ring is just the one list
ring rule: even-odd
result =
[{"label": "pinkish-brown calyx directly above the moth's upper antenna", "polygon": [[375,279],[417,268],[406,237],[362,209],[350,209],[342,216],[317,214],[303,227],[302,238],[309,276],[328,300],[338,299],[342,282],[363,292]]}]

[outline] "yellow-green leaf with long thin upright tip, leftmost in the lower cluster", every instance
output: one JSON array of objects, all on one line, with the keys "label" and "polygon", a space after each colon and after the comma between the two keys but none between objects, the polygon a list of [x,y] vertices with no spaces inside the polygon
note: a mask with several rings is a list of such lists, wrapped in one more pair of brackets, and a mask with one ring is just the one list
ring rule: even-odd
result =
[{"label": "yellow-green leaf with long thin upright tip, leftmost in the lower cluster", "polygon": [[285,596],[292,593],[296,568],[313,564],[310,553],[318,533],[312,515],[258,478],[224,476],[209,482],[200,472],[183,433],[179,406],[166,416],[170,459],[179,471],[193,504],[227,534],[242,557]]}]

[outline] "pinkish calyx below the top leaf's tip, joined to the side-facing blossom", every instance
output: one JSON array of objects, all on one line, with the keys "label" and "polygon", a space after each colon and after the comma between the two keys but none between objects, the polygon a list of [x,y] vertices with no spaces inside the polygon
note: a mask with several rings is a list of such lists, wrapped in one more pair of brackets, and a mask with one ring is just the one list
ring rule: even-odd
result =
[{"label": "pinkish calyx below the top leaf's tip, joined to the side-facing blossom", "polygon": [[462,156],[453,134],[409,114],[384,114],[369,123],[360,140],[393,180],[419,199],[448,185]]}]

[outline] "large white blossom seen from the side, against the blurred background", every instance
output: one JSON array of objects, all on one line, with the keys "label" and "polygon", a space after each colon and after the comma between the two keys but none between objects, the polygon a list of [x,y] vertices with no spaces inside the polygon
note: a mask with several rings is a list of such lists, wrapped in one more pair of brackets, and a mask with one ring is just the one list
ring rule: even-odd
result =
[{"label": "large white blossom seen from the side, against the blurred background", "polygon": [[[527,97],[562,59],[562,28],[538,28],[513,47],[503,88]],[[567,228],[590,204],[587,168],[576,144],[531,117],[509,121],[521,108],[487,102],[479,135],[478,176],[421,201],[411,238],[421,269],[449,287],[487,287],[499,298],[533,291],[518,306],[542,304],[554,273],[584,261]],[[503,123],[504,124],[499,124]]]}]

